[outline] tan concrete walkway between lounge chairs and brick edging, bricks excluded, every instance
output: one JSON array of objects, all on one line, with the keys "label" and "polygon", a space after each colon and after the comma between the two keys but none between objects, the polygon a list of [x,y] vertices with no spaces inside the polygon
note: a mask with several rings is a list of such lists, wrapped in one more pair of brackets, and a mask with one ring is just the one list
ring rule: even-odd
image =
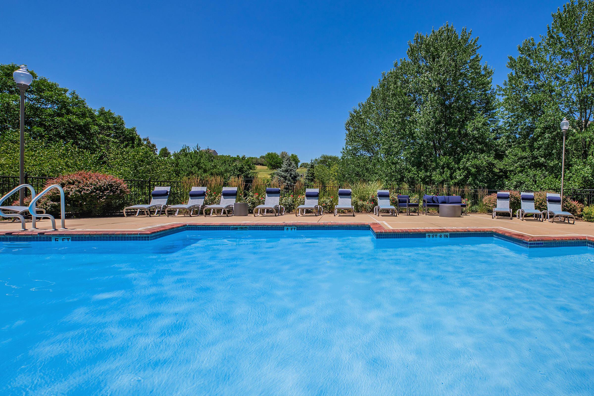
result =
[{"label": "tan concrete walkway between lounge chairs and brick edging, bricks excluded", "polygon": [[[517,218],[492,219],[491,215],[469,214],[459,218],[439,217],[437,214],[416,215],[400,214],[399,216],[390,216],[382,214],[358,213],[355,217],[350,214],[342,214],[334,217],[332,214],[322,216],[295,216],[295,214],[285,214],[284,216],[274,217],[272,215],[254,217],[252,215],[245,217],[234,216],[153,216],[153,217],[94,217],[94,218],[72,218],[67,219],[66,226],[70,230],[143,230],[151,227],[160,226],[168,223],[324,223],[328,221],[340,221],[345,223],[382,223],[387,229],[423,229],[423,228],[451,228],[451,227],[499,227],[503,229],[521,232],[533,236],[562,236],[562,235],[590,235],[594,236],[594,223],[576,221],[576,224],[567,224],[561,222],[549,223],[548,221],[524,220]],[[59,221],[58,221],[59,224]],[[27,229],[31,223],[26,224]],[[49,229],[50,222],[41,220],[37,222],[40,229]],[[0,233],[6,231],[17,231],[20,229],[20,223],[9,223],[0,221]]]}]

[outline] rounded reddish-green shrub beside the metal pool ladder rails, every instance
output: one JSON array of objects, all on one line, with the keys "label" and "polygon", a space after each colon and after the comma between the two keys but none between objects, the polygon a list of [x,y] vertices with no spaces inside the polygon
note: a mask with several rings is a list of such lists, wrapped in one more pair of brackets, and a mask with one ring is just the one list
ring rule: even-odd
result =
[{"label": "rounded reddish-green shrub beside the metal pool ladder rails", "polygon": [[[99,216],[122,210],[130,190],[124,180],[103,173],[76,172],[49,180],[45,188],[58,184],[64,189],[66,211],[75,216]],[[39,201],[49,213],[60,213],[60,193],[52,189]]]}]

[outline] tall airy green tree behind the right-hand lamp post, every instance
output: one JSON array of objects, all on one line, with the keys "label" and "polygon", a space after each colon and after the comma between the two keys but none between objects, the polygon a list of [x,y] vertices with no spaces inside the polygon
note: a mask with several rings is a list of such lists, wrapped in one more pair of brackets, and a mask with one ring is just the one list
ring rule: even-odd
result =
[{"label": "tall airy green tree behind the right-hand lamp post", "polygon": [[559,188],[562,135],[565,186],[589,188],[594,182],[594,2],[568,2],[552,14],[538,42],[525,40],[509,57],[503,87],[502,135],[507,188]]}]

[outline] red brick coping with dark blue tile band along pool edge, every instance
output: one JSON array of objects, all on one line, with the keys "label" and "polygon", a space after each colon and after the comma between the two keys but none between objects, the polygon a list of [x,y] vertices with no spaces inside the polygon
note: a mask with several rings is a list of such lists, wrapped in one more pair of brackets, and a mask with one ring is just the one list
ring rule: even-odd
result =
[{"label": "red brick coping with dark blue tile band along pool edge", "polygon": [[153,240],[185,230],[284,230],[285,227],[299,229],[367,229],[378,239],[425,238],[426,234],[447,233],[450,237],[496,237],[528,248],[589,246],[594,247],[594,237],[589,235],[532,236],[501,227],[445,227],[445,228],[399,228],[388,229],[377,222],[325,221],[295,223],[169,223],[139,230],[27,230],[2,231],[0,242],[51,241],[57,237],[71,240]]}]

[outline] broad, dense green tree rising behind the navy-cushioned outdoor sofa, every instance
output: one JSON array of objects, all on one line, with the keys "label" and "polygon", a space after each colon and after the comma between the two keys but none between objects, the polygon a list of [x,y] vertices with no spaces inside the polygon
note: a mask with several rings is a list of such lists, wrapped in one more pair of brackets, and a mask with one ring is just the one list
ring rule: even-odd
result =
[{"label": "broad, dense green tree rising behind the navy-cushioned outdoor sofa", "polygon": [[[479,49],[478,37],[450,24],[415,35],[407,58],[382,75],[345,124],[349,181],[500,182],[493,72]],[[473,173],[484,168],[482,159],[488,180]]]}]

